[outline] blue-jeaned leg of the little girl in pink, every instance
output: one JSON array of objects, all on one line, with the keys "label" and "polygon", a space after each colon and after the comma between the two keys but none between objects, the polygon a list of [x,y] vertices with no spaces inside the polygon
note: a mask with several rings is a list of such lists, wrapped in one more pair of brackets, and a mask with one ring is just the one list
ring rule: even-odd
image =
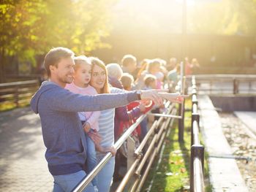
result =
[{"label": "blue-jeaned leg of the little girl in pink", "polygon": [[[86,158],[86,168],[88,173],[91,172],[92,169],[94,169],[95,166],[97,166],[97,158],[96,158],[96,150],[94,142],[91,140],[91,138],[86,134],[86,143],[87,143],[87,158]],[[91,181],[92,185],[97,185],[97,176],[94,177],[94,179]]]}]

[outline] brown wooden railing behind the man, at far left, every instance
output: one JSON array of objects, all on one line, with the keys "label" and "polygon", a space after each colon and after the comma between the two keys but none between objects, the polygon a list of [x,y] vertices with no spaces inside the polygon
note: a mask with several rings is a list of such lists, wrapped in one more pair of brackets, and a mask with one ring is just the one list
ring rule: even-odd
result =
[{"label": "brown wooden railing behind the man, at far left", "polygon": [[0,104],[14,104],[15,107],[19,107],[20,104],[29,103],[38,87],[38,80],[1,83]]}]

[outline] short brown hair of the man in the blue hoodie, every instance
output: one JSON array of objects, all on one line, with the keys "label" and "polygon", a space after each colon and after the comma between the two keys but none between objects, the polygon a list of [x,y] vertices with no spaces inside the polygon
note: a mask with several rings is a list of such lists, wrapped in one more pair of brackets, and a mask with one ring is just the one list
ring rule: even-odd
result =
[{"label": "short brown hair of the man in the blue hoodie", "polygon": [[44,66],[45,70],[48,74],[48,77],[50,77],[50,66],[57,66],[59,64],[59,61],[61,61],[61,58],[71,58],[75,55],[75,53],[72,52],[72,50],[69,50],[65,47],[54,47],[52,48],[46,55],[45,55],[45,61]]}]

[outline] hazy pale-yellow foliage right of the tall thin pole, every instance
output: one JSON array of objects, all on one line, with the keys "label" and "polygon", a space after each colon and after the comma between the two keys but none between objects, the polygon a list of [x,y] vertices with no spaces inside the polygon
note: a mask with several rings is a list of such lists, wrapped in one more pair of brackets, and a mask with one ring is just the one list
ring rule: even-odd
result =
[{"label": "hazy pale-yellow foliage right of the tall thin pole", "polygon": [[255,35],[255,0],[195,1],[189,9],[189,29],[194,33]]}]

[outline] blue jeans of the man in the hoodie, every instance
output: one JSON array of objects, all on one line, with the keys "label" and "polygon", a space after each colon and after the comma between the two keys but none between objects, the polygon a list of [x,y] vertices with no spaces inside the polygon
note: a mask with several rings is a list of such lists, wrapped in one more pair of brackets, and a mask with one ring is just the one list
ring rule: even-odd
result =
[{"label": "blue jeans of the man in the hoodie", "polygon": [[[86,172],[79,171],[72,174],[53,175],[54,185],[53,192],[72,191],[83,178],[86,177]],[[94,192],[94,187],[89,185],[83,190],[84,192]]]}]

